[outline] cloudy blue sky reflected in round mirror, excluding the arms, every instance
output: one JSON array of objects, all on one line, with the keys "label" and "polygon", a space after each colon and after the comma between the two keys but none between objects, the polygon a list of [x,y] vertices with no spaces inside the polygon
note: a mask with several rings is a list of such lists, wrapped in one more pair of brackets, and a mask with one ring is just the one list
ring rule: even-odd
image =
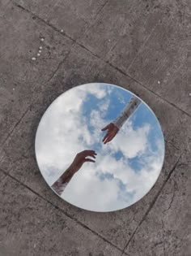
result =
[{"label": "cloudy blue sky reflected in round mirror, excluding the arms", "polygon": [[116,85],[88,84],[58,97],[40,120],[36,160],[51,186],[83,150],[96,150],[96,163],[84,163],[61,197],[86,210],[112,211],[134,204],[155,184],[163,166],[159,121],[142,102],[117,136],[104,145],[101,132],[134,94]]}]

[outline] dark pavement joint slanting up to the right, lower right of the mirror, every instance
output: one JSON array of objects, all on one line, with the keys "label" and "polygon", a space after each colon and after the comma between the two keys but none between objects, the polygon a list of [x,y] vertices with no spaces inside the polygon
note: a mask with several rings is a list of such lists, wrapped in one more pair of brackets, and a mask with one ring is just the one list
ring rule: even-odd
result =
[{"label": "dark pavement joint slanting up to the right, lower right of the mirror", "polygon": [[151,202],[151,205],[150,205],[149,208],[146,210],[145,215],[142,217],[142,220],[138,223],[137,228],[135,228],[134,232],[133,232],[132,235],[130,236],[129,241],[128,241],[127,244],[125,245],[125,248],[123,249],[123,252],[122,252],[121,256],[123,255],[123,253],[125,253],[125,250],[127,249],[128,245],[129,245],[129,243],[130,243],[130,241],[132,241],[132,239],[134,238],[134,235],[135,235],[135,233],[138,231],[138,228],[142,225],[143,221],[145,221],[147,215],[149,214],[149,212],[151,211],[151,209],[152,209],[153,206],[155,205],[155,202],[156,202],[157,199],[159,198],[160,193],[163,191],[163,188],[164,188],[165,184],[167,184],[168,180],[169,180],[170,177],[172,176],[173,171],[176,169],[176,166],[178,165],[181,156],[182,156],[182,154],[180,154],[178,160],[176,161],[176,163],[175,163],[174,166],[172,167],[172,170],[169,171],[167,178],[166,178],[166,179],[164,180],[164,182],[163,182],[163,185],[162,185],[161,188],[159,189],[158,193],[156,193],[154,199],[153,199],[152,202]]}]

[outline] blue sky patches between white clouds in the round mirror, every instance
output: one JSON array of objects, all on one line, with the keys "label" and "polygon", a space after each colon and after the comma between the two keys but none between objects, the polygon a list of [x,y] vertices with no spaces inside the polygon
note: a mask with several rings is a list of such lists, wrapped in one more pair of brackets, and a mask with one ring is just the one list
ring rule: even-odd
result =
[{"label": "blue sky patches between white clouds in the round mirror", "polygon": [[[104,88],[107,89],[110,85],[104,85]],[[111,89],[110,89],[111,90]],[[92,93],[87,93],[87,98],[83,102],[82,106],[82,115],[87,119],[87,126],[90,132],[93,132],[96,127],[92,126],[89,122],[91,118],[91,111],[99,108],[100,103],[104,102],[106,99],[109,99],[113,104],[110,104],[108,110],[105,111],[104,119],[108,121],[108,123],[112,122],[118,115],[120,115],[121,110],[123,110],[130,101],[132,97],[132,93],[129,93],[127,90],[119,89],[117,86],[113,86],[111,92],[104,97],[101,101],[96,98],[96,96]],[[161,132],[161,128],[159,127],[159,122],[155,117],[155,114],[150,110],[146,104],[141,104],[138,107],[138,110],[135,111],[134,115],[129,117],[129,120],[133,119],[132,127],[134,129],[142,126],[143,124],[151,124],[151,131],[148,134],[149,142],[151,143],[151,148],[153,151],[158,149],[155,141],[156,138],[163,137]],[[125,125],[125,124],[124,124]],[[106,132],[104,132],[106,133]],[[100,133],[103,134],[103,133]],[[100,143],[96,143],[93,145],[94,150],[99,150]],[[123,157],[121,151],[115,152],[113,154],[117,160]],[[141,169],[141,163],[139,161],[140,157],[130,158],[129,164],[134,168],[134,171],[139,171]]]}]

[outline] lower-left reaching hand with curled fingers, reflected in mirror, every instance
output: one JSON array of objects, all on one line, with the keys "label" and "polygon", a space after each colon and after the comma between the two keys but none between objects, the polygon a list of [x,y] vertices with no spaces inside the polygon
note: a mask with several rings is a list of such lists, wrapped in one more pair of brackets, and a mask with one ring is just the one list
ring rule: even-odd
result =
[{"label": "lower-left reaching hand with curled fingers, reflected in mirror", "polygon": [[94,150],[83,150],[79,154],[76,154],[76,157],[74,158],[73,163],[71,164],[72,172],[75,173],[76,171],[79,171],[79,169],[83,166],[83,163],[85,162],[92,162],[95,163],[96,161],[92,160],[91,158],[96,158],[96,152]]}]

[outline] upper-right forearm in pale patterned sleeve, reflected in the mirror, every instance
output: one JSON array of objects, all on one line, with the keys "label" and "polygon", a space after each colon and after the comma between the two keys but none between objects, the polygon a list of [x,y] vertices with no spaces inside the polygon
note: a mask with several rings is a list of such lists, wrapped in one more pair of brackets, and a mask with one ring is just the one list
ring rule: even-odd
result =
[{"label": "upper-right forearm in pale patterned sleeve, reflected in the mirror", "polygon": [[120,129],[122,125],[125,123],[125,121],[129,118],[129,116],[132,115],[134,111],[138,109],[140,103],[140,99],[132,97],[127,106],[125,106],[125,109],[121,112],[121,115],[119,115],[117,119],[113,120],[112,124],[115,124],[117,128]]}]

